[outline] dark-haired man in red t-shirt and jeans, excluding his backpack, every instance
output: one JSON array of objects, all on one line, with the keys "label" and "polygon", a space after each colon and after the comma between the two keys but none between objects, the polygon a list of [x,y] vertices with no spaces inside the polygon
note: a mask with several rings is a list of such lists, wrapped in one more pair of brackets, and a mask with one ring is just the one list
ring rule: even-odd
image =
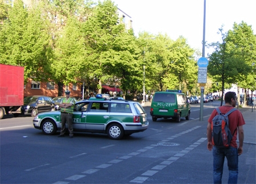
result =
[{"label": "dark-haired man in red t-shirt and jeans, excluding his backpack", "polygon": [[[221,113],[227,113],[237,104],[237,95],[235,92],[227,92],[225,94],[225,105],[219,107]],[[233,134],[229,148],[217,148],[211,143],[211,121],[218,112],[214,109],[208,120],[207,125],[207,149],[213,150],[213,181],[214,183],[222,183],[223,164],[225,157],[227,158],[227,166],[229,167],[228,183],[237,183],[238,179],[238,156],[243,153],[243,125],[245,120],[240,111],[234,111],[229,115],[229,129]],[[239,137],[239,146],[237,146],[237,133]]]}]

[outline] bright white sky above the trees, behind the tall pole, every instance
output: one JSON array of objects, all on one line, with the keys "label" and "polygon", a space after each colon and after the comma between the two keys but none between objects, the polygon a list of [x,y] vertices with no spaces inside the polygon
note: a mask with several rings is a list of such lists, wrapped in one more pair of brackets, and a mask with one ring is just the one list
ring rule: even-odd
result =
[{"label": "bright white sky above the trees, behind the tall pole", "polygon": [[[187,39],[190,47],[202,52],[203,10],[206,1],[205,41],[221,42],[217,34],[233,30],[234,22],[251,26],[256,35],[256,0],[112,0],[133,21],[135,35],[146,31]],[[205,48],[205,56],[211,52]]]}]

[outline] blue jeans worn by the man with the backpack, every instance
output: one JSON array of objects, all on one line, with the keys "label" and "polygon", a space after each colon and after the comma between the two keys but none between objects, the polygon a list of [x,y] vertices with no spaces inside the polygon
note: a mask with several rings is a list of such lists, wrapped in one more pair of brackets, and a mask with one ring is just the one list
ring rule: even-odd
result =
[{"label": "blue jeans worn by the man with the backpack", "polygon": [[227,158],[227,166],[229,167],[228,183],[237,183],[238,150],[232,146],[222,149],[213,147],[213,182],[221,183],[225,157]]}]

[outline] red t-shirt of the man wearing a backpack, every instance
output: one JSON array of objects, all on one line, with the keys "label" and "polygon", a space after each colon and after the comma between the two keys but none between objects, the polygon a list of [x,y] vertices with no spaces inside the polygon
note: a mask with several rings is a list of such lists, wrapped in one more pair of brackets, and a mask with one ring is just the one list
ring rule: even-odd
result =
[{"label": "red t-shirt of the man wearing a backpack", "polygon": [[[231,106],[221,106],[219,107],[219,110],[221,113],[227,113],[234,107]],[[216,109],[213,110],[213,113],[211,113],[211,116],[208,119],[208,122],[211,124],[211,121],[213,120],[214,116],[218,115],[218,112]],[[243,115],[240,111],[234,111],[229,116],[229,129],[231,134],[233,135],[233,138],[230,142],[230,146],[233,146],[234,148],[237,148],[237,127],[245,125],[245,120],[243,119]]]}]

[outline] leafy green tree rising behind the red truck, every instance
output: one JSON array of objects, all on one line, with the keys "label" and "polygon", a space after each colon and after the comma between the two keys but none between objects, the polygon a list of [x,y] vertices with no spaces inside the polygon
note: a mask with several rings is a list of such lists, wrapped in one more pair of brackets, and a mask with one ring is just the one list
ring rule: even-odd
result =
[{"label": "leafy green tree rising behind the red truck", "polygon": [[21,0],[14,1],[0,32],[0,63],[25,67],[25,83],[27,78],[46,81],[50,76],[52,55],[42,17],[37,6],[27,9]]}]

